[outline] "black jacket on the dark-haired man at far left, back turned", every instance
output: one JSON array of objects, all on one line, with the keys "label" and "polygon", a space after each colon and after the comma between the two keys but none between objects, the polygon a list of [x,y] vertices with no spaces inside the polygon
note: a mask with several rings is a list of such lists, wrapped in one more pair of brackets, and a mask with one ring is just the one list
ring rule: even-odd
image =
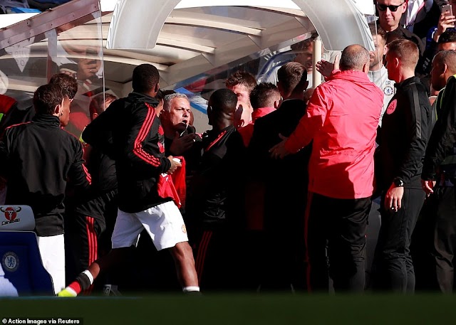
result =
[{"label": "black jacket on the dark-haired man at far left, back turned", "polygon": [[58,117],[36,114],[31,122],[5,130],[0,141],[0,172],[7,180],[6,204],[31,206],[36,234],[63,234],[67,181],[88,195],[90,176],[83,147],[60,127]]}]

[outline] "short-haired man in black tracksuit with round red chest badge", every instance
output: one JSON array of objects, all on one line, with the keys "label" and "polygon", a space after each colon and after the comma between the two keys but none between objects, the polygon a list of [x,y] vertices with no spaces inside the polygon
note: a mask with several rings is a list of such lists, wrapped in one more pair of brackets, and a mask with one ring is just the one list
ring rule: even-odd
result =
[{"label": "short-haired man in black tracksuit with round red chest badge", "polygon": [[415,290],[410,241],[425,200],[420,175],[432,110],[426,87],[415,77],[418,47],[400,39],[387,45],[388,78],[396,93],[390,100],[379,131],[380,168],[375,180],[381,192],[381,227],[375,252],[374,286],[394,292]]}]

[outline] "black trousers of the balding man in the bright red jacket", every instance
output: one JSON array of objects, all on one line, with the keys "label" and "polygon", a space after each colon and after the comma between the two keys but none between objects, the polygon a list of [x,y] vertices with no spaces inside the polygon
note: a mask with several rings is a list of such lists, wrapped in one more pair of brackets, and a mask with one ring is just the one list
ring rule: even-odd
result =
[{"label": "black trousers of the balding man in the bright red jacket", "polygon": [[363,292],[366,228],[371,198],[338,199],[309,193],[306,213],[307,280],[310,292]]}]

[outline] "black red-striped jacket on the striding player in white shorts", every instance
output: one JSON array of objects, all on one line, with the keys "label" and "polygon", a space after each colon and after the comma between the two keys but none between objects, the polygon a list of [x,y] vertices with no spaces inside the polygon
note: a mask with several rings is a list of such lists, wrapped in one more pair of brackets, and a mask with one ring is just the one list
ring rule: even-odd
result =
[{"label": "black red-striped jacket on the striding player in white shorts", "polygon": [[153,97],[131,92],[111,103],[82,134],[85,142],[115,160],[119,209],[127,213],[171,200],[160,197],[157,191],[158,177],[171,166],[154,110],[157,104]]}]

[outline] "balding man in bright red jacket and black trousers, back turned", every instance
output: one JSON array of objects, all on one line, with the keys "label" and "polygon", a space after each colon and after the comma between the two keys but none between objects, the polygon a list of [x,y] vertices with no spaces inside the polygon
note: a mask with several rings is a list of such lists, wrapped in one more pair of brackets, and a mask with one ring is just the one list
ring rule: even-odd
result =
[{"label": "balding man in bright red jacket and black trousers, back turned", "polygon": [[281,159],[313,142],[305,223],[309,291],[327,291],[328,272],[336,292],[364,289],[373,153],[383,104],[383,92],[368,79],[369,61],[366,48],[347,46],[336,70],[314,90],[294,132],[270,149]]}]

